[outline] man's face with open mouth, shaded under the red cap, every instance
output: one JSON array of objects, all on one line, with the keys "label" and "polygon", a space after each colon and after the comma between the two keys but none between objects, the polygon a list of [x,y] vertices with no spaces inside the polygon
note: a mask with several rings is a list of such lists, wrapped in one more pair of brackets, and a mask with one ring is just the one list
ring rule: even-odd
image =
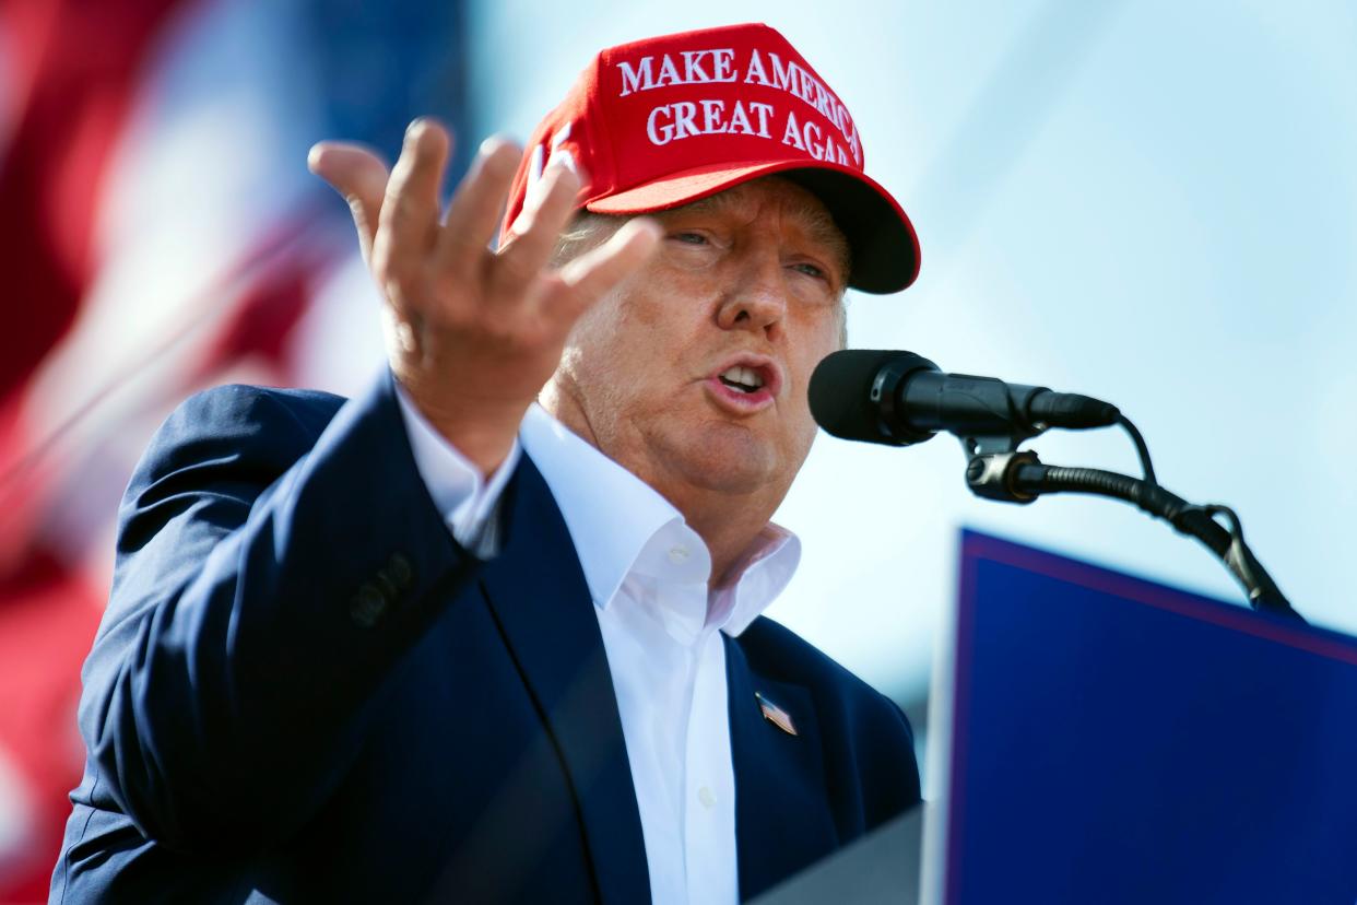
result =
[{"label": "man's face with open mouth, shaded under the red cap", "polygon": [[840,345],[847,242],[779,178],[653,216],[660,251],[566,345],[558,417],[672,502],[775,506],[816,434],[810,373]]}]

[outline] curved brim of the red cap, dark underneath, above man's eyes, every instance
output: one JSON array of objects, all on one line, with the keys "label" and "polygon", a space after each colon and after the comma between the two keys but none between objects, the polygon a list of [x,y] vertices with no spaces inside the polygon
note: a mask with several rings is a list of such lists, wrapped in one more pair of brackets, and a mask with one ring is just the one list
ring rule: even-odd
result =
[{"label": "curved brim of the red cap, dark underneath, above man's eyes", "polygon": [[883,294],[905,289],[919,275],[919,237],[896,199],[858,170],[828,161],[807,166],[801,157],[699,167],[589,201],[585,208],[608,214],[653,213],[772,174],[803,186],[829,210],[852,248],[849,286]]}]

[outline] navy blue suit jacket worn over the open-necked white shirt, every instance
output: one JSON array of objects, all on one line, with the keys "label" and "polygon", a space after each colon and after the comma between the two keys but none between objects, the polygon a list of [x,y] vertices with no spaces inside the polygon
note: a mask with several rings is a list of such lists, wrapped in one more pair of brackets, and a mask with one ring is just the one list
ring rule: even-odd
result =
[{"label": "navy blue suit jacket worn over the open-necked white shirt", "polygon": [[[597,619],[527,457],[501,517],[490,562],[451,537],[389,376],[185,403],[119,513],[53,901],[647,901]],[[803,640],[725,643],[749,897],[919,773],[900,710]]]}]

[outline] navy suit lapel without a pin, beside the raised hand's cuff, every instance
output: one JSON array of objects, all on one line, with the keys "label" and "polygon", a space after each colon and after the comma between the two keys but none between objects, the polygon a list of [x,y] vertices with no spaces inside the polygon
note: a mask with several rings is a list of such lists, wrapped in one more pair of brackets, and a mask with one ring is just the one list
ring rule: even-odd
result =
[{"label": "navy suit lapel without a pin, beside the raised hand's cuff", "polygon": [[505,548],[482,589],[574,788],[604,902],[650,900],[641,814],[593,601],[570,532],[524,456],[505,499]]}]

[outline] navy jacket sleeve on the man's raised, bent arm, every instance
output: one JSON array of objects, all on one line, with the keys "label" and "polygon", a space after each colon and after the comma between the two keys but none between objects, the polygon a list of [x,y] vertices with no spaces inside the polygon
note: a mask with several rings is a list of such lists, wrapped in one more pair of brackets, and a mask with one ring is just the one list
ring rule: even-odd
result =
[{"label": "navy jacket sleeve on the man's raised, bent arm", "polygon": [[394,393],[388,373],[337,412],[335,398],[208,391],[138,464],[80,729],[145,836],[212,852],[292,836],[394,665],[474,579]]}]

